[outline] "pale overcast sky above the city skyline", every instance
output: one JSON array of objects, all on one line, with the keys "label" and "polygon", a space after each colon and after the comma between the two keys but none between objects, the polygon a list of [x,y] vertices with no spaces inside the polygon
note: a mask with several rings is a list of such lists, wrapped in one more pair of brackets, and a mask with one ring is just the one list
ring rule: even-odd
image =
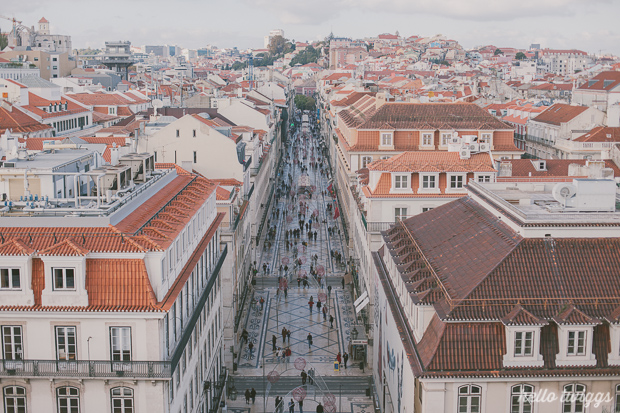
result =
[{"label": "pale overcast sky above the city skyline", "polygon": [[[50,21],[52,34],[71,35],[74,48],[101,48],[106,40],[133,45],[263,47],[283,29],[297,41],[443,34],[463,47],[493,44],[577,48],[620,56],[617,0],[2,0],[0,14],[34,25]],[[0,19],[0,29],[11,23]]]}]

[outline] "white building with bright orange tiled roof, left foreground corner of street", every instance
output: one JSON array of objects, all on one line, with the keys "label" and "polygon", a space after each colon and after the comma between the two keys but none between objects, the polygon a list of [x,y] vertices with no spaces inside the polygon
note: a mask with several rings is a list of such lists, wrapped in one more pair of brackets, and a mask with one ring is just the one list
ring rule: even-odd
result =
[{"label": "white building with bright orange tiled roof, left foreground corner of street", "polygon": [[224,214],[209,180],[153,167],[83,149],[0,167],[5,413],[219,407]]}]

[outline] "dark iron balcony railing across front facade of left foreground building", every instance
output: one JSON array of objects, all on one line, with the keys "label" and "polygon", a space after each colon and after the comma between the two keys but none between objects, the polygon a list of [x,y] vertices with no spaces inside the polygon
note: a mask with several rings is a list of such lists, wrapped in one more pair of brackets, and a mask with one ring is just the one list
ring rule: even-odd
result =
[{"label": "dark iron balcony railing across front facade of left foreground building", "polygon": [[0,377],[127,377],[170,379],[169,361],[1,360]]}]

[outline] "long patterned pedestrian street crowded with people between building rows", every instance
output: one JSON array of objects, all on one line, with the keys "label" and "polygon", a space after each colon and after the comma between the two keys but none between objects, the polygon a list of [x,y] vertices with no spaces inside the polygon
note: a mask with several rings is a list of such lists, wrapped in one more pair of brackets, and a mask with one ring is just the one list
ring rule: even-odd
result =
[{"label": "long patterned pedestrian street crowded with people between building rows", "polygon": [[[346,385],[336,385],[332,380],[333,376],[357,378],[368,387],[365,378],[369,372],[363,372],[352,358],[347,368],[342,363],[340,371],[334,369],[338,353],[351,353],[355,311],[349,286],[344,284],[346,245],[328,188],[328,169],[321,147],[309,133],[295,135],[285,146],[277,181],[279,191],[267,215],[269,221],[261,234],[256,261],[256,277],[263,282],[257,283],[259,287],[248,300],[242,318],[248,339],[242,342],[236,360],[238,370],[233,375],[239,385],[246,382],[258,386],[259,397],[254,404],[246,404],[245,388],[237,386],[237,400],[228,401],[228,411],[275,412],[276,395],[284,397],[286,412],[291,398],[303,398],[306,412],[314,412],[319,402],[325,403],[325,412],[374,411],[370,398],[342,395]],[[290,331],[290,336],[283,338],[283,328]],[[278,357],[277,350],[287,348],[291,356]],[[309,380],[302,386],[301,370],[313,370],[313,383]],[[287,384],[281,381],[285,378]],[[272,385],[278,390],[270,394]],[[295,412],[299,412],[297,402]]]}]

